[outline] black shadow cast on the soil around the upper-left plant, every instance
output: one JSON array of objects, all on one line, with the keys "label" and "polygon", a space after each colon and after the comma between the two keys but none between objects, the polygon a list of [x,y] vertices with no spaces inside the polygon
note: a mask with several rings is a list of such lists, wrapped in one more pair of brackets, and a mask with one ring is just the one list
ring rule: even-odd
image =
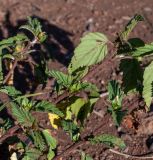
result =
[{"label": "black shadow cast on the soil around the upper-left plant", "polygon": [[[42,24],[43,31],[45,31],[48,35],[48,38],[41,46],[41,49],[40,46],[36,46],[36,48],[41,50],[41,52],[31,54],[33,61],[40,64],[43,57],[45,61],[51,59],[52,61],[57,61],[57,63],[67,66],[74,50],[74,45],[70,40],[70,37],[73,36],[73,34],[57,27],[54,24],[50,24],[45,19],[37,16],[32,17],[39,19]],[[5,33],[0,32],[0,34],[3,38],[14,36],[19,31],[19,27],[26,23],[27,19],[23,19],[17,21],[17,25],[14,26],[10,21],[10,13],[8,12],[6,14],[5,22],[3,23]],[[24,31],[24,33],[31,36],[29,32]],[[38,73],[41,74],[41,77],[44,77],[43,67],[40,67],[39,69],[40,71]],[[26,91],[34,92],[38,85],[37,81],[38,77],[34,76],[34,69],[31,68],[31,65],[28,62],[20,62],[14,73],[15,87],[23,93]]]}]

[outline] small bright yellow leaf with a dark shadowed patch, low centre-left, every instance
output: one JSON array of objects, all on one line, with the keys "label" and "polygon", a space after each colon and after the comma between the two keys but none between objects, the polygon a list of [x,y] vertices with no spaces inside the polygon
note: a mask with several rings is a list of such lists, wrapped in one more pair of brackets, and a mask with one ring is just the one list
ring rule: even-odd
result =
[{"label": "small bright yellow leaf with a dark shadowed patch, low centre-left", "polygon": [[48,113],[48,118],[50,123],[54,129],[58,129],[60,117],[57,114]]}]

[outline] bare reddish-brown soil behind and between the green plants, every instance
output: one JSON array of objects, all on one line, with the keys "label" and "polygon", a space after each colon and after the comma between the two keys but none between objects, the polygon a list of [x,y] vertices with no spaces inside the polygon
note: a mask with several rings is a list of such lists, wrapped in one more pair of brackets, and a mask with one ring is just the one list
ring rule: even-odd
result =
[{"label": "bare reddish-brown soil behind and between the green plants", "polygon": [[[73,50],[83,34],[99,31],[108,35],[110,39],[114,39],[116,32],[120,31],[135,13],[141,13],[146,21],[136,27],[132,36],[140,37],[146,42],[152,41],[152,9],[152,0],[0,0],[0,39],[14,35],[18,27],[25,22],[27,16],[38,17],[49,35],[43,46],[48,66],[50,69],[56,68],[65,71],[73,55]],[[35,59],[35,57],[33,58]],[[118,72],[118,65],[117,61],[113,61],[108,56],[102,64],[91,68],[86,80],[96,83],[101,91],[105,92],[106,84],[110,79],[120,79],[121,77]],[[15,76],[16,88],[22,92],[51,89],[52,80],[48,81],[46,87],[43,88],[41,85],[33,83],[33,78],[31,78],[33,73],[24,71],[24,67],[31,71],[29,64],[18,66],[15,72],[18,75]],[[22,76],[29,77],[29,79],[23,78],[21,81]],[[44,97],[37,97],[37,99],[51,100],[51,97],[46,94]],[[153,151],[152,137],[151,134],[144,133],[141,121],[145,123],[146,120],[148,122],[147,118],[151,117],[151,113],[146,114],[143,107],[144,103],[137,95],[127,97],[124,100],[124,108],[128,108],[129,116],[124,119],[120,130],[117,131],[111,116],[107,113],[107,100],[101,98],[94,107],[101,116],[97,116],[95,113],[91,114],[81,137],[101,133],[120,135],[127,144],[124,153],[138,156],[148,154]],[[149,119],[149,123],[152,122],[152,119]],[[42,118],[41,123],[46,124],[46,121]],[[144,124],[144,126],[147,125]],[[141,128],[141,131],[138,128]],[[149,130],[152,129],[153,127],[149,128]],[[153,133],[153,131],[151,132]],[[95,160],[136,159],[113,154],[104,145],[93,146],[83,142],[72,147],[72,142],[63,131],[54,134],[59,142],[57,155],[61,154],[63,160],[79,160],[81,150],[89,153]],[[0,160],[4,160],[2,155],[7,150],[5,147],[3,150],[1,148],[2,146],[0,147]]]}]

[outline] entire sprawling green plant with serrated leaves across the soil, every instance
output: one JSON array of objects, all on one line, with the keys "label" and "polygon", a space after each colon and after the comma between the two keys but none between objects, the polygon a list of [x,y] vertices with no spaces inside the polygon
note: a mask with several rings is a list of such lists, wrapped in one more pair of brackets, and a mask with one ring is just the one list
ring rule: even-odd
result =
[{"label": "entire sprawling green plant with serrated leaves across the soil", "polygon": [[[144,58],[152,56],[153,43],[145,44],[139,38],[129,38],[131,31],[138,22],[143,20],[141,15],[135,15],[118,33],[114,42],[110,42],[104,34],[99,32],[86,34],[74,50],[74,56],[66,73],[49,70],[45,66],[45,77],[55,79],[54,91],[57,99],[52,103],[31,100],[28,97],[37,94],[22,95],[20,91],[9,85],[17,62],[27,60],[29,54],[36,51],[35,44],[41,44],[47,38],[40,22],[35,18],[28,18],[28,24],[20,27],[30,31],[33,35],[32,39],[20,33],[0,42],[0,92],[10,98],[8,102],[1,105],[0,111],[6,107],[9,116],[11,115],[0,120],[0,131],[3,137],[13,127],[18,126],[20,128],[18,132],[21,134],[18,136],[15,132],[17,140],[15,140],[16,148],[12,156],[17,153],[16,156],[24,160],[37,160],[41,156],[46,156],[46,159],[50,160],[55,156],[57,140],[52,136],[51,130],[44,129],[40,125],[39,120],[34,116],[37,112],[47,113],[54,129],[63,128],[73,141],[79,141],[84,122],[100,97],[100,90],[95,84],[85,81],[84,77],[88,74],[90,66],[102,62],[106,57],[108,43],[116,48],[113,58],[121,59],[120,70],[123,72],[123,82],[119,84],[111,80],[107,88],[110,102],[108,111],[112,115],[115,126],[119,127],[126,114],[122,111],[124,95],[139,92],[146,102],[146,109],[149,110],[153,97],[151,76],[153,62],[145,68],[141,64]],[[5,59],[8,63],[4,63]],[[10,70],[7,75],[4,74],[3,65]],[[125,143],[120,138],[109,134],[90,138],[89,141],[93,144],[104,143],[111,147],[125,148]],[[92,158],[82,152],[81,159]]]}]

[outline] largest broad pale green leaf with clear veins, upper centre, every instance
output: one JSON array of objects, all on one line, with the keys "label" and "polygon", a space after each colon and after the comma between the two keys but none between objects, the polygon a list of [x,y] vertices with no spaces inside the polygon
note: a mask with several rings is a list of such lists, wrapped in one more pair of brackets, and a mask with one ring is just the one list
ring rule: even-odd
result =
[{"label": "largest broad pale green leaf with clear veins, upper centre", "polygon": [[107,42],[107,37],[99,32],[89,33],[81,38],[81,43],[75,49],[68,67],[69,73],[102,61],[107,54]]}]

